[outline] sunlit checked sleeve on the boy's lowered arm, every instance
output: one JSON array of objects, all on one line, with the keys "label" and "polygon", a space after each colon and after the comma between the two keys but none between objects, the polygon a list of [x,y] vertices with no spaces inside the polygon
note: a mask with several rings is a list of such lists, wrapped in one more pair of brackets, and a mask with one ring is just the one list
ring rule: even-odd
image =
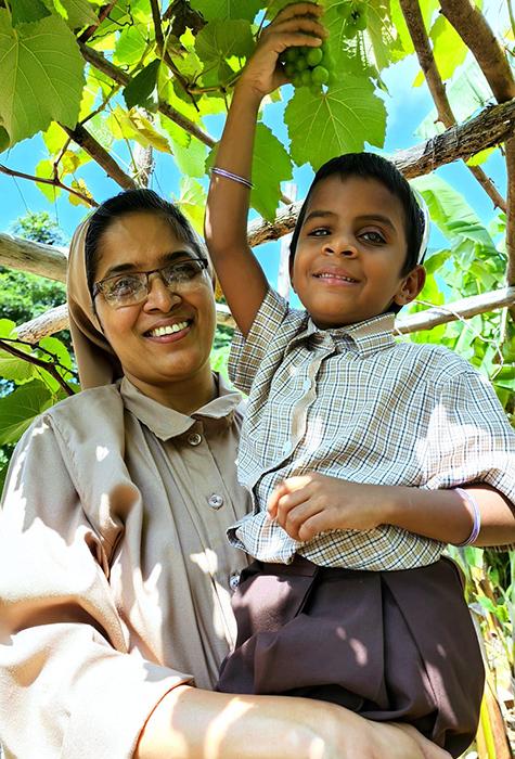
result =
[{"label": "sunlit checked sleeve on the boy's lowered arm", "polygon": [[[427,488],[486,483],[515,511],[515,432],[490,383],[463,372],[436,388],[421,459]],[[507,551],[515,545],[492,546]]]}]

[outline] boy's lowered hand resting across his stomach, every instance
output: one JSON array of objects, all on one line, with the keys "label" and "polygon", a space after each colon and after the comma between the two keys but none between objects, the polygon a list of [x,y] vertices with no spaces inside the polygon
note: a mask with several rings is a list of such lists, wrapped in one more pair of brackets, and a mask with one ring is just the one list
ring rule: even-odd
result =
[{"label": "boy's lowered hand resting across his stomach", "polygon": [[306,541],[324,530],[371,530],[384,524],[385,491],[383,486],[312,472],[285,479],[271,494],[267,510],[291,538]]}]

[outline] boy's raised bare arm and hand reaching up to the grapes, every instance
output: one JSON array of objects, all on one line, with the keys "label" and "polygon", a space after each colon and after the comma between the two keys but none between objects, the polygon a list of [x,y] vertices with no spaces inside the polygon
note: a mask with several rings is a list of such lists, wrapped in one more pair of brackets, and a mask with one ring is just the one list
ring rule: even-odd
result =
[{"label": "boy's raised bare arm and hand reaching up to the grapes", "polygon": [[[312,3],[288,5],[261,34],[236,85],[215,166],[252,181],[254,134],[261,100],[287,81],[279,55],[294,46],[318,47],[325,35]],[[267,280],[247,243],[249,188],[211,175],[205,237],[229,308],[246,336],[267,292]]]}]

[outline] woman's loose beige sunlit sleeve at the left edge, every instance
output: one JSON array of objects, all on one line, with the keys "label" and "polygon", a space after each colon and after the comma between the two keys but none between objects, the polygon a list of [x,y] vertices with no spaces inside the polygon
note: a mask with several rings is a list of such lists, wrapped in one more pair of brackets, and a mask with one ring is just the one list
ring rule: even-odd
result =
[{"label": "woman's loose beige sunlit sleeve at the left edge", "polygon": [[0,513],[0,735],[7,757],[128,759],[189,674],[129,653],[113,546],[81,507],[51,420],[17,446]]}]

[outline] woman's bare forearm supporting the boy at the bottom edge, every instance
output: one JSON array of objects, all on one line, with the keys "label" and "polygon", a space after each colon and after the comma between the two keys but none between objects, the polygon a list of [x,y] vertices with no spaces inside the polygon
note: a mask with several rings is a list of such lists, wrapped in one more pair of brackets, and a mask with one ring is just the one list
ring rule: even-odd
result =
[{"label": "woman's bare forearm supporting the boy at the bottom edge", "polygon": [[449,759],[402,725],[288,696],[173,689],[141,734],[134,759]]}]

